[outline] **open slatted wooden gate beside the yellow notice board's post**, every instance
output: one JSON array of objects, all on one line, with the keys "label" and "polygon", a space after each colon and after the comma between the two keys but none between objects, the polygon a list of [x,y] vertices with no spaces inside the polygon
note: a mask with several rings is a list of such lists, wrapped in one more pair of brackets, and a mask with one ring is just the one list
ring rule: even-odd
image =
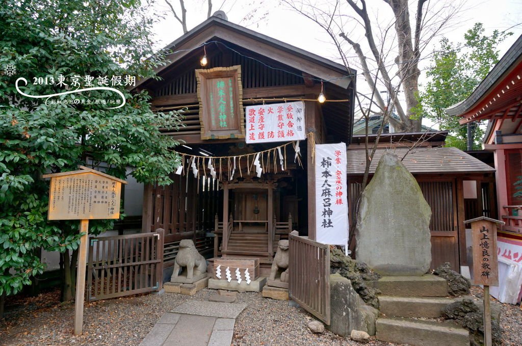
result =
[{"label": "open slatted wooden gate beside the yellow notice board's post", "polygon": [[89,238],[87,301],[161,290],[163,239],[162,229]]}]

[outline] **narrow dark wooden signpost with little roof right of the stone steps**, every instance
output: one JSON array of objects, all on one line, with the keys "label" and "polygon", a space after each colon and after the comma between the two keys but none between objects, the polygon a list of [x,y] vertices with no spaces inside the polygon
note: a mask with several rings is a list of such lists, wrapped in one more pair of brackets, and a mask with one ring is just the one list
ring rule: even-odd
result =
[{"label": "narrow dark wooden signpost with little roof right of the stone steps", "polygon": [[464,221],[471,223],[473,265],[471,282],[484,287],[484,345],[491,346],[490,286],[499,285],[499,262],[497,259],[496,227],[504,224],[499,220],[480,217]]}]

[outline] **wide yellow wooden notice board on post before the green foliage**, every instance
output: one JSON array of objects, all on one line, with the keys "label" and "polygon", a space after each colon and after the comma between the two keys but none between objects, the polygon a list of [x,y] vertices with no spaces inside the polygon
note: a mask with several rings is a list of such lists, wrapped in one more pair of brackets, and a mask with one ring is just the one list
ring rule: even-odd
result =
[{"label": "wide yellow wooden notice board on post before the green foliage", "polygon": [[126,181],[84,166],[81,170],[45,174],[51,178],[49,189],[49,220],[80,220],[80,248],[76,299],[74,307],[74,333],[80,335],[84,324],[85,268],[89,220],[119,219],[120,194]]}]

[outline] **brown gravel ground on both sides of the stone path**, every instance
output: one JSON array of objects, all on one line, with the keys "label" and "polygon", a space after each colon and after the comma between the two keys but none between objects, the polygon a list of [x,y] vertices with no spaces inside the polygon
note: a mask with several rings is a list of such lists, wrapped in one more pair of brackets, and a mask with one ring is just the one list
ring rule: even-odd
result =
[{"label": "brown gravel ground on both sides of the stone path", "polygon": [[[137,295],[86,304],[84,333],[73,336],[73,304],[61,304],[59,291],[38,297],[10,297],[6,319],[0,325],[3,345],[138,345],[156,321],[187,300],[207,301],[215,290],[204,289],[190,297],[181,294]],[[473,290],[477,295],[480,292]],[[306,323],[313,317],[288,302],[263,298],[259,293],[238,293],[247,308],[236,320],[233,345],[363,345],[325,331],[312,334]],[[522,345],[522,311],[502,304],[503,342]],[[367,344],[366,344],[367,345]],[[393,345],[376,341],[370,345]]]}]

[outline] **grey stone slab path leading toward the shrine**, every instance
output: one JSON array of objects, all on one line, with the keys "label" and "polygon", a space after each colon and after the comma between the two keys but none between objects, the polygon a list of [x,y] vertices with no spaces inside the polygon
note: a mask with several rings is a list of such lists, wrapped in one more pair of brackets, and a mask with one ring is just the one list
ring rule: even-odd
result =
[{"label": "grey stone slab path leading toward the shrine", "polygon": [[165,313],[140,346],[230,346],[246,304],[188,301]]}]

